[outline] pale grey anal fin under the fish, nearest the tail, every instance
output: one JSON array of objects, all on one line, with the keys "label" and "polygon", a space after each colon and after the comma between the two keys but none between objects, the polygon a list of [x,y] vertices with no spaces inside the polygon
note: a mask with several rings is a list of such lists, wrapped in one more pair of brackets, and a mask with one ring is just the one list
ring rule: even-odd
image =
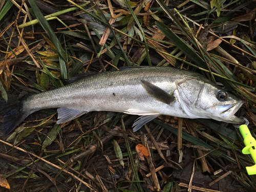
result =
[{"label": "pale grey anal fin under the fish, nearest the tail", "polygon": [[59,108],[57,109],[57,112],[59,119],[57,123],[65,123],[87,113],[86,111],[72,110],[67,108]]}]

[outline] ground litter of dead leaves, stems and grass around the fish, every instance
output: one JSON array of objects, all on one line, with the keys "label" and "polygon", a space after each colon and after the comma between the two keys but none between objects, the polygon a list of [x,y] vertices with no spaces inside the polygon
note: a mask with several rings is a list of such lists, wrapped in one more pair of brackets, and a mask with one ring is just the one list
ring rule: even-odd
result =
[{"label": "ground litter of dead leaves, stems and grass around the fish", "polygon": [[[0,92],[8,100],[84,72],[175,67],[245,100],[238,115],[255,137],[255,11],[248,0],[2,0]],[[0,191],[256,191],[231,124],[160,116],[133,133],[132,115],[56,118],[36,112],[0,138]]]}]

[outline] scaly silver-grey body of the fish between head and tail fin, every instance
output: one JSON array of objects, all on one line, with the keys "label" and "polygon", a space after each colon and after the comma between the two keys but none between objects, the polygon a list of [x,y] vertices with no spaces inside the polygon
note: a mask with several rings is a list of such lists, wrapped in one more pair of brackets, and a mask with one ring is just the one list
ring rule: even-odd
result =
[{"label": "scaly silver-grey body of the fish between head and tail fin", "polygon": [[[176,87],[175,81],[184,79],[185,75],[188,76],[184,72],[173,68],[142,68],[100,73],[65,87],[32,95],[27,98],[24,105],[27,107],[26,110],[35,111],[46,108],[70,108],[87,112],[123,112],[133,106],[153,108],[154,104],[159,106],[162,103],[145,93],[140,79],[150,81],[170,93]],[[116,108],[113,109],[113,105]]]}]

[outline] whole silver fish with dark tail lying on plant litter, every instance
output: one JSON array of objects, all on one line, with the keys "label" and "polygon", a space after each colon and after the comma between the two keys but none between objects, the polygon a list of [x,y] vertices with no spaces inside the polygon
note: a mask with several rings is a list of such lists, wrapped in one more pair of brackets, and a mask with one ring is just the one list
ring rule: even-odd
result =
[{"label": "whole silver fish with dark tail lying on plant litter", "polygon": [[57,108],[57,123],[91,111],[139,115],[133,124],[134,132],[160,115],[244,123],[234,115],[244,102],[196,72],[172,67],[128,67],[85,75],[60,88],[2,102],[2,135],[9,134],[30,114],[51,108]]}]

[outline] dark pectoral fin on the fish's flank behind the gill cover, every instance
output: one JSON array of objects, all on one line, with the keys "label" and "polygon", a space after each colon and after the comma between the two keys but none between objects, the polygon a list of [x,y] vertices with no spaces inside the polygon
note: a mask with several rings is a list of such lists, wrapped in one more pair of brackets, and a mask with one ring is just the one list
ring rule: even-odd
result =
[{"label": "dark pectoral fin on the fish's flank behind the gill cover", "polygon": [[161,101],[166,104],[170,104],[174,101],[174,97],[161,88],[155,86],[154,84],[141,80],[143,88],[146,90],[147,94],[150,95],[152,98]]}]

